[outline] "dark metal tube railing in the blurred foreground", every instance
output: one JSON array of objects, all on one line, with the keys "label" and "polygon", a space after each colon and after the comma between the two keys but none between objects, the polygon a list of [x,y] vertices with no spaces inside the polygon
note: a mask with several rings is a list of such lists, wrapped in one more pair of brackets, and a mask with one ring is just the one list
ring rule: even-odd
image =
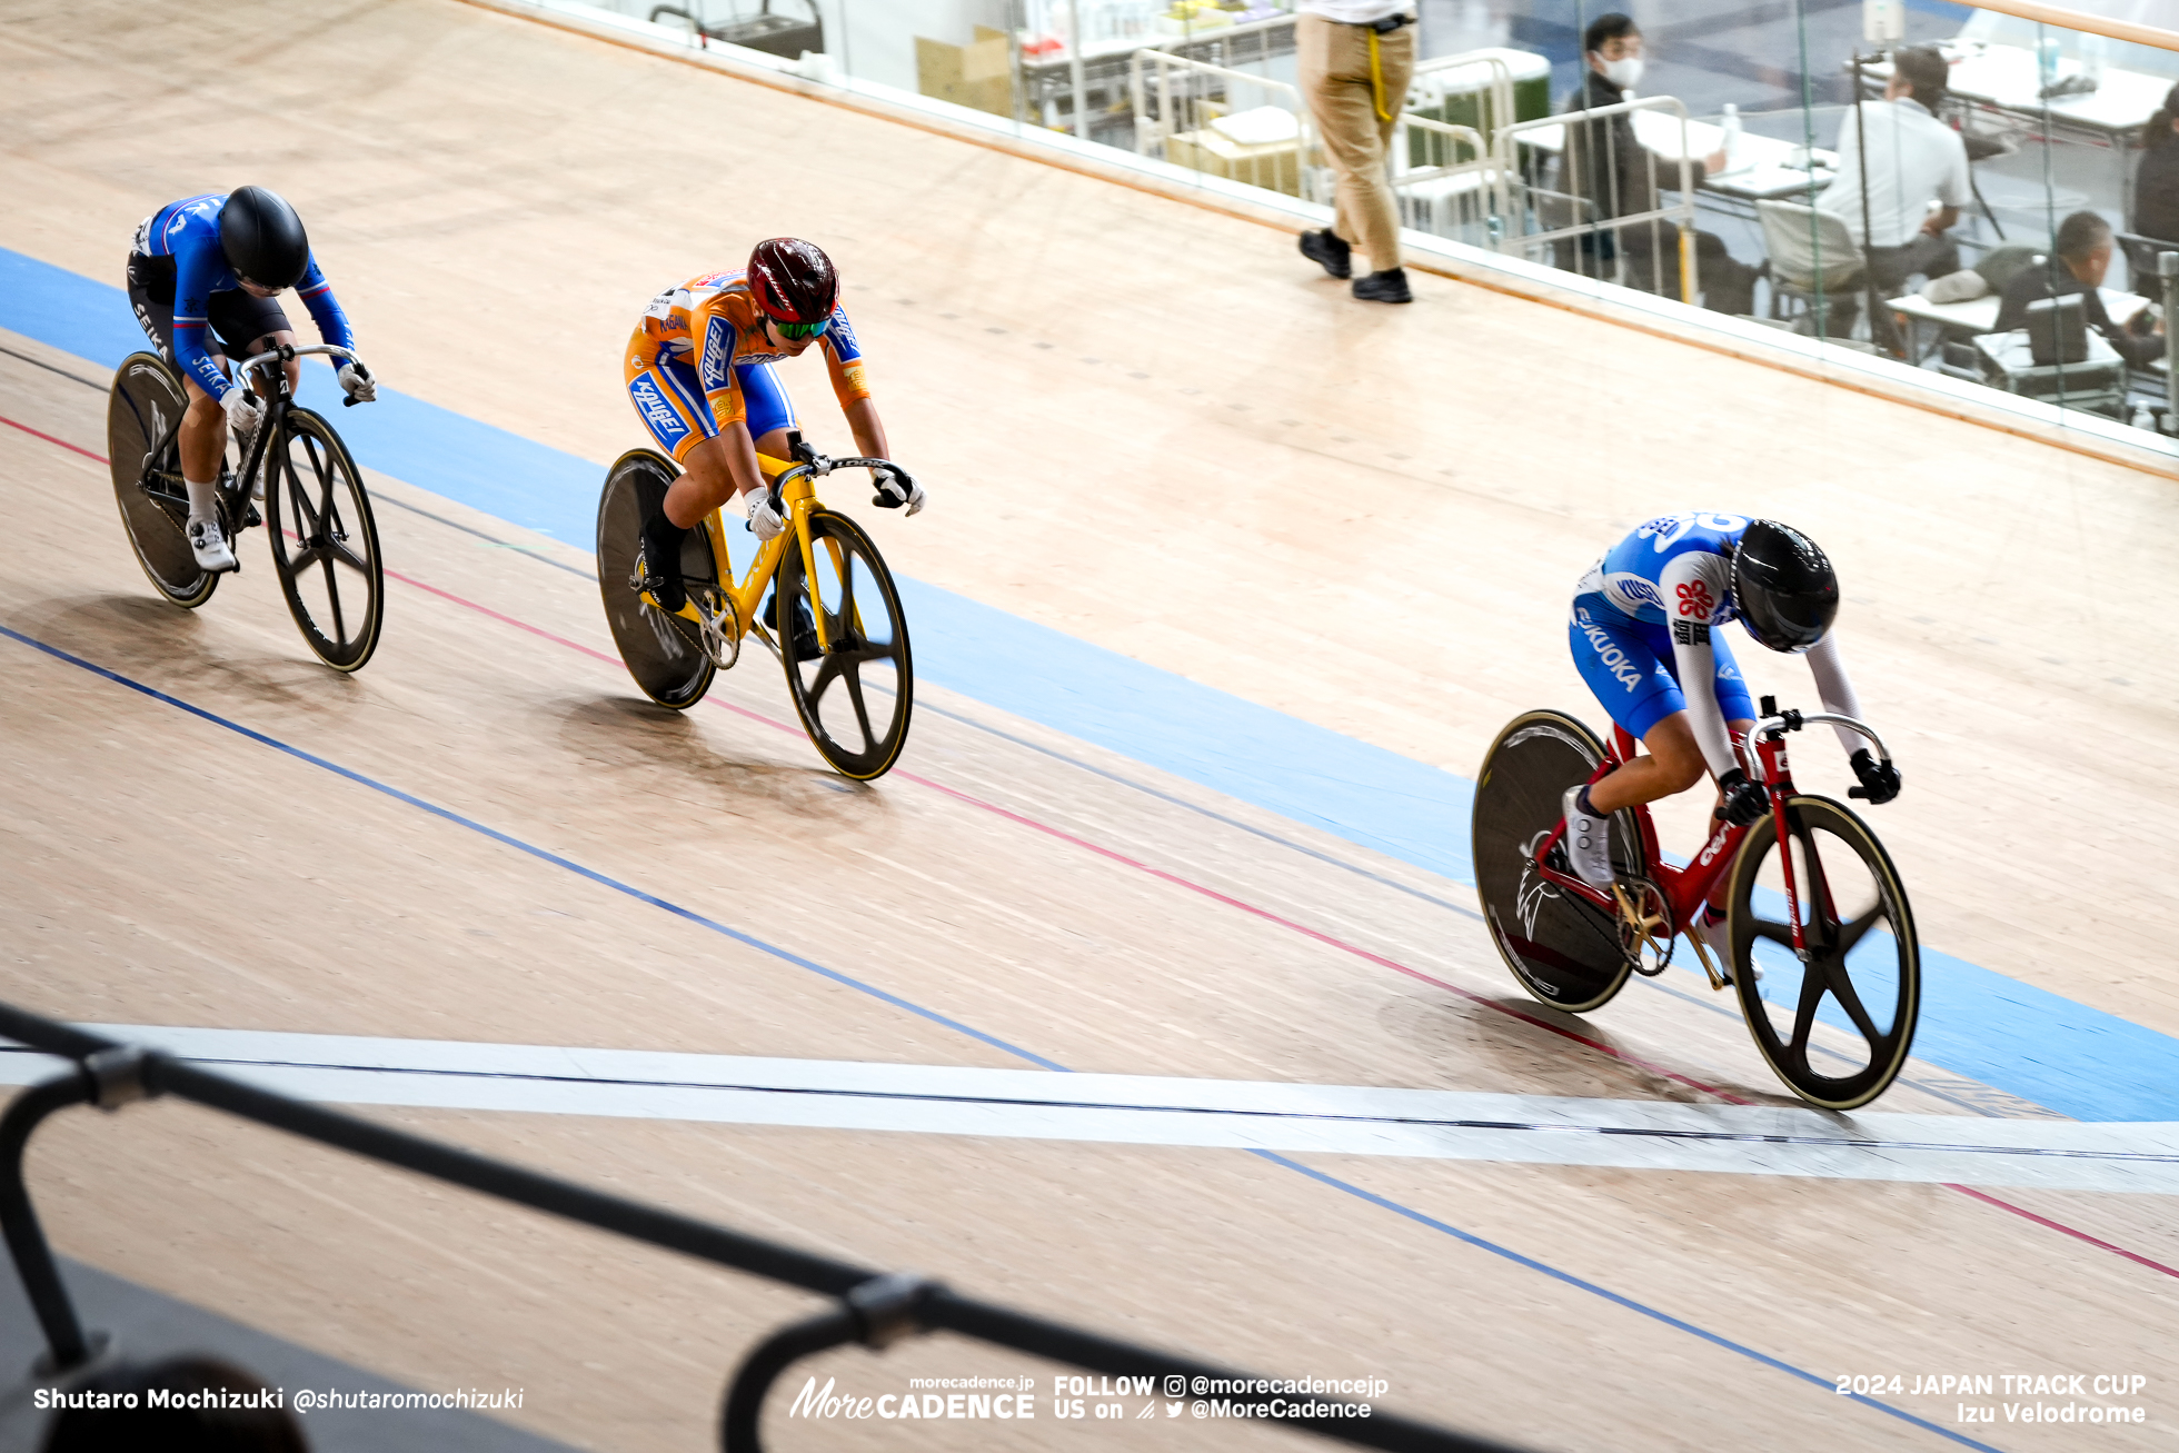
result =
[{"label": "dark metal tube railing in the blurred foreground", "polygon": [[[920,1277],[880,1274],[869,1268],[743,1235],[741,1231],[728,1231],[726,1226],[715,1226],[691,1216],[662,1211],[621,1196],[606,1196],[571,1181],[543,1176],[534,1170],[508,1165],[506,1161],[473,1155],[455,1146],[442,1146],[407,1131],[394,1131],[318,1104],[290,1100],[288,1096],[214,1074],[211,1070],[200,1070],[159,1050],[113,1043],[9,1004],[0,1004],[0,1037],[76,1061],[74,1067],[54,1078],[24,1089],[9,1104],[7,1113],[0,1115],[0,1231],[7,1233],[9,1255],[15,1259],[15,1270],[22,1274],[22,1285],[31,1294],[31,1307],[37,1311],[37,1322],[46,1333],[48,1357],[39,1364],[39,1370],[54,1377],[85,1366],[92,1359],[92,1346],[83,1335],[83,1324],[76,1320],[74,1305],[68,1301],[68,1287],[61,1285],[52,1250],[46,1246],[46,1233],[37,1224],[37,1211],[31,1207],[31,1192],[22,1176],[24,1146],[46,1115],[70,1104],[96,1104],[115,1111],[131,1100],[174,1096],[325,1146],[340,1146],[373,1161],[401,1165],[416,1174],[582,1222],[584,1226],[597,1226],[599,1231],[612,1231],[636,1242],[665,1246],[667,1250],[680,1250],[739,1272],[752,1272],[837,1298],[837,1307],[776,1331],[743,1359],[734,1372],[734,1381],[728,1385],[721,1416],[726,1453],[758,1453],[756,1423],[765,1405],[765,1394],[780,1372],[798,1359],[845,1346],[848,1342],[882,1348],[900,1338],[924,1331],[950,1331],[996,1346],[1011,1346],[1046,1362],[1083,1368],[1085,1372],[1151,1377],[1159,1388],[1166,1385],[1168,1377],[1181,1377],[1188,1383],[1205,1377],[1214,1383],[1225,1381],[1227,1385],[1255,1381],[1249,1372],[1192,1362],[1157,1348],[1100,1338],[1092,1331],[996,1307]],[[1283,1416],[1275,1414],[1251,1420],[1283,1423],[1364,1449],[1512,1453],[1506,1444],[1469,1438],[1466,1433],[1375,1409],[1368,1416],[1303,1416],[1288,1412]]]}]

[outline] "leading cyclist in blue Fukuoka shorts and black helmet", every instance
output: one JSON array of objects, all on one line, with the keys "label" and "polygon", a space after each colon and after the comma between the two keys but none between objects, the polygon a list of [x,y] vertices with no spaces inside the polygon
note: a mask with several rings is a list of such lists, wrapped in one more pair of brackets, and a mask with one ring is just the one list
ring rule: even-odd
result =
[{"label": "leading cyclist in blue Fukuoka shorts and black helmet", "polygon": [[[1567,789],[1567,858],[1586,882],[1610,887],[1606,823],[1619,808],[1684,793],[1704,769],[1717,778],[1717,817],[1748,826],[1767,810],[1732,754],[1728,732],[1754,725],[1748,682],[1717,627],[1739,621],[1772,651],[1806,654],[1824,710],[1859,717],[1846,662],[1830,636],[1839,579],[1809,536],[1745,514],[1665,514],[1604,553],[1575,586],[1567,634],[1573,664],[1612,721],[1645,756],[1593,786]],[[1900,773],[1861,738],[1839,732],[1870,802],[1891,802]],[[1704,917],[1715,928],[1717,908]]]}]

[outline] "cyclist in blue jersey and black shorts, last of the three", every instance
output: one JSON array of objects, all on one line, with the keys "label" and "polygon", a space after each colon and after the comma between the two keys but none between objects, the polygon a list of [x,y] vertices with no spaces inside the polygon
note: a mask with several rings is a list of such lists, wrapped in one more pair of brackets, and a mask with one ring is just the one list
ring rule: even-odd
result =
[{"label": "cyclist in blue jersey and black shorts, last of the three", "polygon": [[[137,227],[129,253],[129,303],[159,355],[181,368],[190,407],[181,418],[181,479],[190,488],[190,549],[198,569],[231,571],[235,551],[220,532],[218,477],[224,431],[246,444],[264,405],[227,377],[229,357],[294,342],[275,301],[296,288],[325,342],[353,349],[349,318],[309,255],[303,218],[279,194],[238,187],[185,196]],[[288,362],[288,388],[301,368]],[[340,388],[377,396],[362,364],[340,366]]]}]

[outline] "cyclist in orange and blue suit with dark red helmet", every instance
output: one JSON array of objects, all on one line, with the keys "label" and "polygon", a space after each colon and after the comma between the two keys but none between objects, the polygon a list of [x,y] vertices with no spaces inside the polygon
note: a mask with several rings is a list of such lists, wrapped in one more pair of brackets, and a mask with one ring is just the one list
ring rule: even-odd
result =
[{"label": "cyclist in orange and blue suit with dark red helmet", "polygon": [[[839,305],[832,259],[800,237],[769,237],[750,253],[745,268],[704,272],[667,288],[628,338],[623,377],[628,401],[658,447],[682,466],[665,503],[643,523],[643,588],[667,610],[686,603],[675,569],[682,536],[732,497],[741,497],[758,540],[784,521],[769,508],[769,486],[756,464],[765,453],[787,457],[795,405],[774,364],[824,349],[856,449],[887,457],[885,423],[869,396],[863,346]],[[924,508],[924,488],[898,466],[874,468],[872,503],[887,510]]]}]

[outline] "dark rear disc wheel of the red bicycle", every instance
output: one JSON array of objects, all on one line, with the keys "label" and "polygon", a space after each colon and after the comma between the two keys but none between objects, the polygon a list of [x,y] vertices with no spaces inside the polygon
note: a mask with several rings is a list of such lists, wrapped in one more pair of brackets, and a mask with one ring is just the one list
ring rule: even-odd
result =
[{"label": "dark rear disc wheel of the red bicycle", "polygon": [[[1602,1009],[1628,982],[1634,961],[1619,945],[1619,919],[1536,874],[1536,845],[1560,821],[1560,799],[1604,760],[1595,732],[1565,712],[1514,717],[1484,756],[1475,780],[1471,843],[1475,895],[1506,967],[1554,1009]],[[1634,821],[1612,817],[1612,863],[1639,871]],[[1554,847],[1554,867],[1571,871]]]}]

